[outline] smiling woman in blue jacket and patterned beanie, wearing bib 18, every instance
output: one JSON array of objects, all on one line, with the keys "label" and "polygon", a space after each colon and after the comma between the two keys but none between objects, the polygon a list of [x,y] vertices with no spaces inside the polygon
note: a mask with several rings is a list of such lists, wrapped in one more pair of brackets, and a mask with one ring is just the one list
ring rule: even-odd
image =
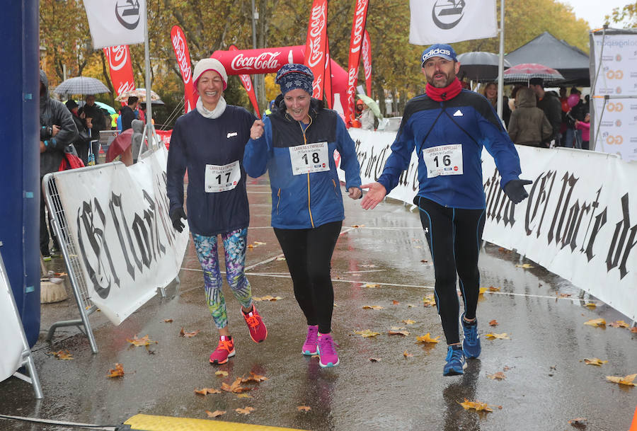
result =
[{"label": "smiling woman in blue jacket and patterned beanie, wearing bib 18", "polygon": [[334,150],[349,197],[358,199],[362,192],[354,142],[338,114],[311,98],[313,80],[303,64],[285,64],[277,72],[282,100],[252,126],[243,166],[253,178],[265,171],[270,176],[272,227],[308,325],[302,352],[319,352],[321,367],[334,367],[330,261],[345,219]]}]

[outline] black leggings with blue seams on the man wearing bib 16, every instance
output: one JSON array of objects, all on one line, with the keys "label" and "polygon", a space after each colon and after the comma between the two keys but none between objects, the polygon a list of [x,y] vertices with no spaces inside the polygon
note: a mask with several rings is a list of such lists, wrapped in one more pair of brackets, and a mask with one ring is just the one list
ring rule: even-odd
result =
[{"label": "black leggings with blue seams on the man wearing bib 16", "polygon": [[443,207],[425,197],[416,196],[420,222],[435,270],[435,295],[447,344],[459,343],[458,314],[460,305],[456,293],[456,274],[468,319],[476,317],[480,272],[478,254],[484,229],[484,209]]}]

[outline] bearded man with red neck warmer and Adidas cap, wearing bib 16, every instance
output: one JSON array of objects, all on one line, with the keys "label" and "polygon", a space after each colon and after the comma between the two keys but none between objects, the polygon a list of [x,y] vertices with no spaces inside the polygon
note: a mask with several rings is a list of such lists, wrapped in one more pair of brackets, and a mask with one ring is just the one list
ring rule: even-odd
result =
[{"label": "bearded man with red neck warmer and Adidas cap, wearing bib 16", "polygon": [[[420,61],[427,79],[425,94],[407,103],[382,175],[377,183],[361,186],[369,189],[361,205],[374,208],[398,185],[415,149],[420,188],[413,202],[420,209],[434,264],[436,305],[448,345],[443,374],[449,376],[463,374],[465,357],[478,357],[481,352],[476,308],[486,202],[483,146],[495,159],[502,177],[500,185],[514,203],[528,197],[524,185],[531,181],[518,178],[517,151],[488,100],[462,89],[456,77],[460,64],[454,49],[445,44],[432,45]],[[462,344],[457,276],[464,301]]]}]

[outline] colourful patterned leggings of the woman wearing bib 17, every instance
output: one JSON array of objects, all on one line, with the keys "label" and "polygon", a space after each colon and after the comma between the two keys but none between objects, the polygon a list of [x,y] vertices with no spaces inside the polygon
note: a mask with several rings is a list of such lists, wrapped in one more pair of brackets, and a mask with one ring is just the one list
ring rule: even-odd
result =
[{"label": "colourful patterned leggings of the woman wearing bib 17", "polygon": [[[246,237],[248,228],[222,234],[224,255],[226,258],[226,279],[234,293],[234,297],[246,309],[252,306],[252,290],[243,269],[246,262]],[[217,328],[228,325],[226,301],[222,291],[222,277],[219,272],[219,256],[217,255],[217,236],[203,236],[193,233],[197,258],[204,272],[206,288],[206,304],[210,309],[212,320]]]}]

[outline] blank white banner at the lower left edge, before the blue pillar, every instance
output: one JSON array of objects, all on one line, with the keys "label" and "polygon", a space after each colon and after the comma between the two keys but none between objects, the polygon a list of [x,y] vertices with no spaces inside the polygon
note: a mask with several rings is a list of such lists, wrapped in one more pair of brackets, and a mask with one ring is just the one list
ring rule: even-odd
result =
[{"label": "blank white banner at the lower left edge, before the blue pillar", "polygon": [[0,263],[0,381],[18,371],[22,363],[22,352],[25,350],[21,335],[22,323],[10,289],[4,265]]}]

